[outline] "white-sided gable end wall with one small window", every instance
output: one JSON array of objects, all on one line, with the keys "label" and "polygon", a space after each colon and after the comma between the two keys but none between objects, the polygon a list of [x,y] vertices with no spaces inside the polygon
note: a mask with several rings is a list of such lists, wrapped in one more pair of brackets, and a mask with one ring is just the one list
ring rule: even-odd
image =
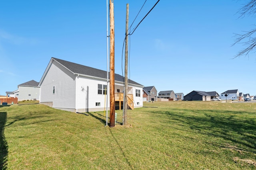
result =
[{"label": "white-sided gable end wall with one small window", "polygon": [[[76,108],[76,76],[56,61],[50,68],[40,86],[40,102],[52,102],[54,108]],[[55,86],[55,94],[52,88]]]}]

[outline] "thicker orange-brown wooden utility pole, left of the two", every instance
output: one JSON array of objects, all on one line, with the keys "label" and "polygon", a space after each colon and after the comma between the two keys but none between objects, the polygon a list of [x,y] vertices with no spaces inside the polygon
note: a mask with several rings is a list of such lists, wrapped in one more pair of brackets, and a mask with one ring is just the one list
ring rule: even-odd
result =
[{"label": "thicker orange-brown wooden utility pole, left of the two", "polygon": [[110,127],[115,126],[115,29],[114,0],[109,1],[110,16]]}]

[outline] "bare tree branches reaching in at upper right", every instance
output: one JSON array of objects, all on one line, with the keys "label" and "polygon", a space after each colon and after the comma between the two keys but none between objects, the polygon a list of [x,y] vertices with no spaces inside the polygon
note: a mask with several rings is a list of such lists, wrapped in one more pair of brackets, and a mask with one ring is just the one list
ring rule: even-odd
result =
[{"label": "bare tree branches reaching in at upper right", "polygon": [[[247,4],[245,4],[240,10],[238,10],[240,14],[239,18],[242,18],[246,15],[248,16],[256,16],[256,0],[250,0]],[[235,33],[236,39],[233,45],[242,43],[245,48],[238,52],[236,57],[240,57],[242,55],[248,55],[250,52],[253,52],[256,49],[256,29],[252,29],[250,31],[243,31],[242,34]],[[232,45],[232,46],[233,46]]]}]

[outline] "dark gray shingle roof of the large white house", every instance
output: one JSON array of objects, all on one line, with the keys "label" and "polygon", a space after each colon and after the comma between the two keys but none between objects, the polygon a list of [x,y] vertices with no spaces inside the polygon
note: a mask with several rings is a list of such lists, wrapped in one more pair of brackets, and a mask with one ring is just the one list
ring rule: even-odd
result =
[{"label": "dark gray shingle roof of the large white house", "polygon": [[[52,59],[54,59],[58,63],[62,64],[63,66],[68,68],[73,73],[83,74],[83,75],[87,75],[87,76],[94,76],[94,77],[98,77],[98,78],[106,78],[107,77],[106,76],[107,72],[104,71],[104,70],[99,70],[97,68],[92,68],[92,67],[89,67],[89,66],[76,64],[76,63],[72,63],[72,62],[69,62],[69,61],[56,59],[56,58],[53,58],[53,57],[52,57]],[[124,82],[124,77],[119,75],[119,74],[115,74],[115,81]],[[130,79],[128,79],[128,83],[142,86],[141,84],[139,84],[137,82],[134,82]]]}]

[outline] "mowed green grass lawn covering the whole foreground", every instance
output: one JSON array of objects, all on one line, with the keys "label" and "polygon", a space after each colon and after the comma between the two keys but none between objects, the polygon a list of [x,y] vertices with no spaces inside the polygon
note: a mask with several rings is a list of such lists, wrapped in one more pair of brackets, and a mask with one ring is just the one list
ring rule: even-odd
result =
[{"label": "mowed green grass lawn covering the whole foreground", "polygon": [[104,127],[104,112],[0,107],[0,169],[256,169],[256,103],[144,106],[128,110],[126,128]]}]

